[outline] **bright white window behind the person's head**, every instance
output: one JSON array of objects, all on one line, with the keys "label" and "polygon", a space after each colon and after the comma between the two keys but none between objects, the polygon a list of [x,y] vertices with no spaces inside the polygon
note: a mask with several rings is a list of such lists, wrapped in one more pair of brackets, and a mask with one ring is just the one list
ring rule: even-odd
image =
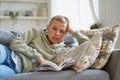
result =
[{"label": "bright white window behind the person's head", "polygon": [[51,0],[52,16],[69,18],[74,30],[89,29],[93,22],[88,0]]}]

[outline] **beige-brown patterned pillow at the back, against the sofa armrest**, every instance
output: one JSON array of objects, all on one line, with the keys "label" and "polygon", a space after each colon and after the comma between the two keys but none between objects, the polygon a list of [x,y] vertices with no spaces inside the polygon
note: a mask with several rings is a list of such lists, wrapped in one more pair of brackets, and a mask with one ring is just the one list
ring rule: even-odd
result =
[{"label": "beige-brown patterned pillow at the back, against the sofa armrest", "polygon": [[92,37],[96,32],[100,31],[103,33],[102,46],[100,50],[100,54],[96,59],[96,62],[92,65],[91,68],[101,69],[107,63],[111,52],[114,49],[116,44],[116,40],[119,34],[120,25],[104,27],[101,29],[93,29],[93,30],[81,30],[80,32],[88,37]]}]

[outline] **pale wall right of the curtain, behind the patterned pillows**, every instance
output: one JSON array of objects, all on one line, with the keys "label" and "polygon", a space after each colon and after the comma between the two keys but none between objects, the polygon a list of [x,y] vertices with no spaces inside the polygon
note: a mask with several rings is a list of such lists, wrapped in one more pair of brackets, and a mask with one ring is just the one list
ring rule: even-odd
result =
[{"label": "pale wall right of the curtain, behind the patterned pillows", "polygon": [[[120,0],[99,0],[99,17],[105,25],[120,24]],[[120,48],[120,33],[115,48]]]}]

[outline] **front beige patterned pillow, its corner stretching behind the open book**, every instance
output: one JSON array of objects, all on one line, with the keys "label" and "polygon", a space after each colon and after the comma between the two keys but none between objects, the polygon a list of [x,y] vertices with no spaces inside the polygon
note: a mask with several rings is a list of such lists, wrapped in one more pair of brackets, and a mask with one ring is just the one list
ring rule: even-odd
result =
[{"label": "front beige patterned pillow, its corner stretching behind the open book", "polygon": [[76,72],[81,72],[89,68],[99,55],[102,44],[102,33],[97,32],[90,40],[79,46],[70,48],[64,54],[59,54],[54,58],[54,62],[60,64],[63,60],[73,58],[75,63],[71,66]]}]

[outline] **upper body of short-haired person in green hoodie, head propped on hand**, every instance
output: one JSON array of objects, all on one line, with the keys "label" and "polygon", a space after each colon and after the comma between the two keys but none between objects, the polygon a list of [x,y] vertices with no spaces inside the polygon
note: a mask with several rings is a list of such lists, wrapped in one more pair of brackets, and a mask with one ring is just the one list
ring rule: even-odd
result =
[{"label": "upper body of short-haired person in green hoodie, head propped on hand", "polygon": [[47,25],[47,29],[32,29],[19,38],[13,39],[10,49],[15,52],[11,54],[15,71],[34,71],[45,60],[51,61],[57,54],[64,53],[67,46],[63,38],[67,32],[76,37],[79,43],[88,40],[87,37],[82,37],[79,32],[72,30],[69,20],[61,15],[54,16]]}]

